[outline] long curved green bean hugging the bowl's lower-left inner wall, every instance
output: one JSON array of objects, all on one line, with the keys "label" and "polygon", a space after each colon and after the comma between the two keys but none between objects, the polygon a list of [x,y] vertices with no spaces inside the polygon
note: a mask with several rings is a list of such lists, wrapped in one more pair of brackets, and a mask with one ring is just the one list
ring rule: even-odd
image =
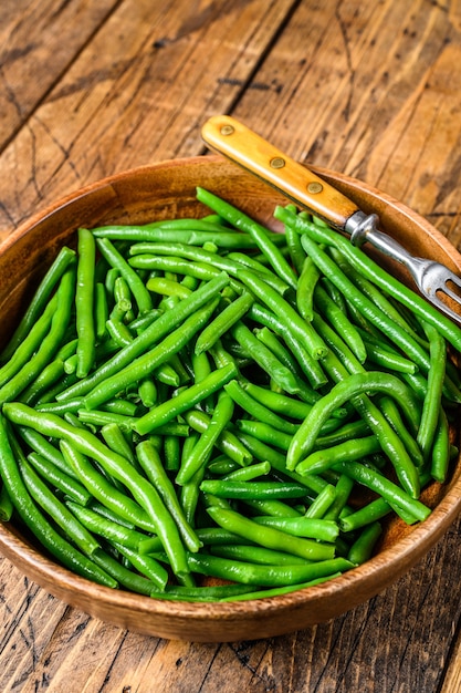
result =
[{"label": "long curved green bean hugging the bowl's lower-left inner wall", "polygon": [[7,421],[2,414],[0,414],[0,474],[22,521],[52,556],[80,576],[107,587],[117,587],[117,582],[113,578],[64,539],[38,509],[19,473],[7,430]]}]

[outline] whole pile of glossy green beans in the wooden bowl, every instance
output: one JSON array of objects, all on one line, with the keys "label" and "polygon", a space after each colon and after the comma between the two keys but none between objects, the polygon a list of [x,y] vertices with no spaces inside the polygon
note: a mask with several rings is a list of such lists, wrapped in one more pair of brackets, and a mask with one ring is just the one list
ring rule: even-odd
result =
[{"label": "whole pile of glossy green beans in the wooden bowl", "polygon": [[157,599],[318,585],[431,508],[461,330],[293,205],[77,231],[0,358],[0,517]]}]

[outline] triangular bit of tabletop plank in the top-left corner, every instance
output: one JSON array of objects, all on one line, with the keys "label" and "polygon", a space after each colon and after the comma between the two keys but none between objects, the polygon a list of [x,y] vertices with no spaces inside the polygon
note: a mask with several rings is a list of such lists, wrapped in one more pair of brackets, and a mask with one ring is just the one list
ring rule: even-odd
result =
[{"label": "triangular bit of tabletop plank in the top-left corner", "polygon": [[119,0],[18,0],[0,7],[0,151]]}]

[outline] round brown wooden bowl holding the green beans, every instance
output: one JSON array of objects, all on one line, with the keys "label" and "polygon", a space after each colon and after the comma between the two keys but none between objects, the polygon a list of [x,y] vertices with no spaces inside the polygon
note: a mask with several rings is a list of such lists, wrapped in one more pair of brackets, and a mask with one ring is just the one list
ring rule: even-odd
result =
[{"label": "round brown wooden bowl holding the green beans", "polygon": [[[417,255],[438,259],[461,272],[461,256],[417,214],[369,186],[318,169],[383,227]],[[57,249],[73,245],[78,226],[146,223],[201,215],[195,188],[200,185],[270,224],[283,198],[263,183],[219,157],[171,161],[90,185],[51,205],[19,228],[0,250],[0,314],[6,342],[31,292]],[[408,571],[442,537],[461,506],[460,459],[443,486],[426,493],[433,508],[415,527],[390,523],[378,555],[324,585],[291,594],[235,603],[182,603],[149,599],[99,587],[46,558],[13,524],[0,526],[0,550],[29,578],[64,602],[134,631],[189,641],[220,642],[279,635],[333,619],[365,602]]]}]

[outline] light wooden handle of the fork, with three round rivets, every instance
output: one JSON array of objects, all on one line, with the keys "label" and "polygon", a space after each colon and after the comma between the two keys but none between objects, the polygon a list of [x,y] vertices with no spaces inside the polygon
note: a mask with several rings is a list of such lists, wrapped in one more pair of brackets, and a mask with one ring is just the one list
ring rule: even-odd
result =
[{"label": "light wooden handle of the fork, with three round rivets", "polygon": [[211,149],[223,154],[340,230],[345,229],[352,215],[359,210],[339,190],[228,115],[211,117],[205,123],[201,135]]}]

